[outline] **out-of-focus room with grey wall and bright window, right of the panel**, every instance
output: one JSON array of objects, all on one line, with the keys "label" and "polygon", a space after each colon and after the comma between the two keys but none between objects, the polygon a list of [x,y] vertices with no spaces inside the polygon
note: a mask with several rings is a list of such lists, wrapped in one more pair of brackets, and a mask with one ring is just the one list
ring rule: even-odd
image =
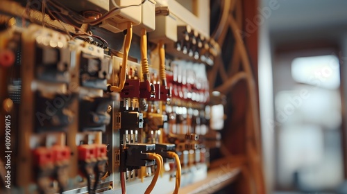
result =
[{"label": "out-of-focus room with grey wall and bright window, right of the panel", "polygon": [[268,193],[347,193],[347,1],[261,0],[258,82]]}]

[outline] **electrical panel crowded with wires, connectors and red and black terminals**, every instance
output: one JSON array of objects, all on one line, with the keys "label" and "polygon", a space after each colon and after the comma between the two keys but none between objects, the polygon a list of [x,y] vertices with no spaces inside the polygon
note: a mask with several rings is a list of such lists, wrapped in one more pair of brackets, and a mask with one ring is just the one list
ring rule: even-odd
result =
[{"label": "electrical panel crowded with wires, connectors and red and black terminals", "polygon": [[220,137],[205,32],[162,1],[0,5],[1,193],[178,193],[206,177]]}]

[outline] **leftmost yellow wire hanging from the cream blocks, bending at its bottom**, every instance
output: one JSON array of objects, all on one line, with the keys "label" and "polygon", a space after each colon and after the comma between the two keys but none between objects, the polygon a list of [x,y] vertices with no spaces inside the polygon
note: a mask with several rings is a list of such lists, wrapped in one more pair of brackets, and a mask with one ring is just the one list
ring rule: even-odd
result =
[{"label": "leftmost yellow wire hanging from the cream blocks, bending at its bottom", "polygon": [[126,40],[124,42],[124,52],[123,52],[123,60],[121,63],[121,76],[119,79],[119,86],[111,86],[111,91],[121,91],[124,88],[124,84],[126,83],[126,64],[128,62],[128,54],[131,44],[131,39],[133,38],[133,24],[131,22],[128,22],[128,28],[126,31]]}]

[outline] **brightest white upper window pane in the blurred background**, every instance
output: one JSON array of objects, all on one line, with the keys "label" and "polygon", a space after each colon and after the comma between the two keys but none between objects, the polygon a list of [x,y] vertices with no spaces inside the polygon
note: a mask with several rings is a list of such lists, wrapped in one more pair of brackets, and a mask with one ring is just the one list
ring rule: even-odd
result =
[{"label": "brightest white upper window pane in the blurred background", "polygon": [[335,55],[296,58],[291,62],[291,77],[296,82],[326,89],[338,89],[339,59]]}]

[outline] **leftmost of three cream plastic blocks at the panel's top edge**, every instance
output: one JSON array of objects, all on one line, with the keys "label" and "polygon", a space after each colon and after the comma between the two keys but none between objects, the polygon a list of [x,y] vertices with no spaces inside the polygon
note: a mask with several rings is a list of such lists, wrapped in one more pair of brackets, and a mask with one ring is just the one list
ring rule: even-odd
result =
[{"label": "leftmost of three cream plastic blocks at the panel's top edge", "polygon": [[117,8],[110,15],[111,17],[104,20],[100,24],[101,28],[110,30],[112,33],[119,33],[126,30],[128,22],[130,21],[133,26],[141,23],[142,5],[135,6],[142,3],[142,0],[110,0],[110,10]]}]

